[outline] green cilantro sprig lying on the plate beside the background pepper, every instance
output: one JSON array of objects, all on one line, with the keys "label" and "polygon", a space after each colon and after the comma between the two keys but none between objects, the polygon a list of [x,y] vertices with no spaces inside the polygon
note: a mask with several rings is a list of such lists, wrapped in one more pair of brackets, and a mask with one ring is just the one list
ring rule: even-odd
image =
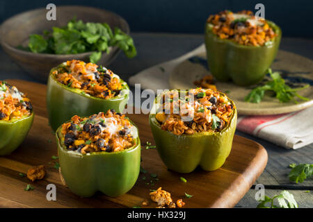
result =
[{"label": "green cilantro sprig lying on the plate beside the background pepper", "polygon": [[305,89],[310,85],[305,85],[300,88],[292,89],[289,85],[284,83],[284,79],[280,76],[278,72],[272,73],[272,69],[268,69],[272,80],[269,80],[265,85],[256,87],[246,96],[245,101],[250,103],[259,103],[264,98],[264,93],[266,91],[271,91],[275,93],[275,97],[282,103],[287,103],[289,101],[294,101],[298,103],[294,97],[298,97],[303,101],[308,101],[309,99],[303,96],[300,96],[297,91]]}]

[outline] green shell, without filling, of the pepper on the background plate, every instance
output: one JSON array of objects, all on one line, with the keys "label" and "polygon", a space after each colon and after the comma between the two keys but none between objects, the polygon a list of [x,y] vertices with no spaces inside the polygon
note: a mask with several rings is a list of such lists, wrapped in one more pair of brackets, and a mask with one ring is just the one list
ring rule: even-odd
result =
[{"label": "green shell, without filling, of the pepper on the background plate", "polygon": [[245,46],[232,40],[222,40],[211,31],[211,24],[205,25],[207,62],[217,80],[232,80],[236,85],[248,86],[264,78],[276,57],[282,36],[280,27],[267,22],[277,36],[264,46]]}]

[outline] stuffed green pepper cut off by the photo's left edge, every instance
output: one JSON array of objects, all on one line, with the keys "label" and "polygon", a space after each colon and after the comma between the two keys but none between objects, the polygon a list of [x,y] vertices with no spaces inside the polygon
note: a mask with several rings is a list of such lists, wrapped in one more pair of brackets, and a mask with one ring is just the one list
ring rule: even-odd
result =
[{"label": "stuffed green pepper cut off by the photo's left edge", "polygon": [[29,98],[15,86],[0,81],[0,155],[8,155],[22,144],[33,117]]}]

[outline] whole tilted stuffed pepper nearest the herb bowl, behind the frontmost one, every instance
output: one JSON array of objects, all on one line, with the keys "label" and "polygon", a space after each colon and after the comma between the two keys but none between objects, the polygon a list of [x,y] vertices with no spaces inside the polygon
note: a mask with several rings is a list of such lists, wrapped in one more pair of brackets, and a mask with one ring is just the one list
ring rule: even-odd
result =
[{"label": "whole tilted stuffed pepper nearest the herb bowl, behind the frontmost one", "polygon": [[122,112],[128,97],[127,83],[111,70],[80,60],[63,62],[49,74],[49,123],[56,131],[74,114],[85,117],[109,109]]}]

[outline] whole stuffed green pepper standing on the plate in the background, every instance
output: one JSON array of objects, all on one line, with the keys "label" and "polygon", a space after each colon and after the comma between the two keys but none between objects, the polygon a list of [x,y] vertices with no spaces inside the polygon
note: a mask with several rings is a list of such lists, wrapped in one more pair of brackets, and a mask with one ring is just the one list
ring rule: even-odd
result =
[{"label": "whole stuffed green pepper standing on the plate in the background", "polygon": [[281,35],[277,25],[250,11],[211,15],[204,31],[211,74],[241,86],[259,83],[275,59]]}]

